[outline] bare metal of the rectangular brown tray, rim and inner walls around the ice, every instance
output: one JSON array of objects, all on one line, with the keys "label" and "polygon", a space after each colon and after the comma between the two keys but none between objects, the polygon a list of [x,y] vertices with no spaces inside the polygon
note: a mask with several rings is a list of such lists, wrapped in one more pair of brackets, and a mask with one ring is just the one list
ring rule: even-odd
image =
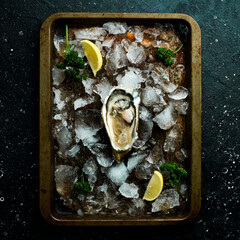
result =
[{"label": "bare metal of the rectangular brown tray, rim and inner walls around the ice", "polygon": [[[53,27],[57,24],[77,22],[99,25],[109,20],[129,24],[155,22],[183,23],[190,29],[186,46],[187,87],[191,91],[190,109],[186,118],[186,139],[189,146],[189,207],[179,216],[84,216],[63,214],[54,203],[54,153],[52,140],[52,81],[51,64]],[[198,23],[185,14],[165,13],[56,13],[48,17],[40,30],[40,210],[43,217],[55,225],[176,225],[193,220],[201,206],[201,31]]]}]

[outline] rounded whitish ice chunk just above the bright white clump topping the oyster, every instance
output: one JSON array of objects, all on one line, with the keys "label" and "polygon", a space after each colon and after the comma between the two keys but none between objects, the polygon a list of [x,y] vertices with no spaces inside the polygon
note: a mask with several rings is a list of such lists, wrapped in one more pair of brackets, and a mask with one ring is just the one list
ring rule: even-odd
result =
[{"label": "rounded whitish ice chunk just above the bright white clump topping the oyster", "polygon": [[134,65],[142,64],[146,60],[143,46],[138,46],[137,43],[133,42],[128,48],[127,58]]}]

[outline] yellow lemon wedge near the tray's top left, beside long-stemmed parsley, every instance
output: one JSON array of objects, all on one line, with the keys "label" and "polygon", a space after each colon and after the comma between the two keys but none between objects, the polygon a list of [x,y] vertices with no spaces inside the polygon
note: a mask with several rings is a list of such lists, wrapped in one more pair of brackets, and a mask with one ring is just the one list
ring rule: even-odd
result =
[{"label": "yellow lemon wedge near the tray's top left, beside long-stemmed parsley", "polygon": [[102,67],[102,54],[99,48],[94,43],[88,40],[82,40],[81,43],[83,45],[83,49],[89,65],[93,71],[93,75],[94,77],[96,77],[97,72]]}]

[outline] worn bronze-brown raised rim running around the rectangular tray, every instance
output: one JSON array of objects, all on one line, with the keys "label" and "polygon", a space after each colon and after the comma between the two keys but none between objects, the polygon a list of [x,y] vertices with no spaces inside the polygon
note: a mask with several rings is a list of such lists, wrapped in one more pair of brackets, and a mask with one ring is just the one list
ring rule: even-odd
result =
[{"label": "worn bronze-brown raised rim running around the rectangular tray", "polygon": [[[113,18],[113,19],[159,19],[184,20],[191,27],[191,209],[181,218],[124,218],[108,217],[106,219],[66,219],[52,211],[53,184],[51,176],[52,142],[51,142],[51,27],[57,19],[77,18]],[[40,29],[40,91],[39,91],[39,197],[42,216],[51,224],[65,226],[127,226],[127,225],[179,225],[194,220],[201,208],[201,30],[191,16],[182,13],[91,13],[62,12],[50,15]],[[49,91],[45,91],[48,89]],[[193,186],[195,186],[193,188]]]}]

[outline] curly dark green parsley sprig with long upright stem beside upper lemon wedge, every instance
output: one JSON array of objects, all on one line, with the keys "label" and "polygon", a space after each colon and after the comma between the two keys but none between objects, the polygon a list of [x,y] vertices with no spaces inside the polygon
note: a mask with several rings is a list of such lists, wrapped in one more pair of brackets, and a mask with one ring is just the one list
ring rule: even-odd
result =
[{"label": "curly dark green parsley sprig with long upright stem beside upper lemon wedge", "polygon": [[56,67],[60,69],[66,69],[64,71],[66,78],[76,81],[82,81],[88,78],[88,74],[81,74],[80,69],[84,68],[84,61],[81,57],[78,57],[78,52],[71,50],[68,43],[68,25],[66,25],[66,56],[59,63],[56,63]]}]

